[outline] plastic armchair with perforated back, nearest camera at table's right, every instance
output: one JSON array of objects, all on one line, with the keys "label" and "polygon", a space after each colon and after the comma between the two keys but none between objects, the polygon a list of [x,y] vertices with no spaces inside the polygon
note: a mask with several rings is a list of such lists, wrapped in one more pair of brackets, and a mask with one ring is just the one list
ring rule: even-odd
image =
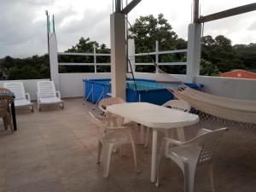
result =
[{"label": "plastic armchair with perforated back, nearest camera at table's right", "polygon": [[[160,172],[163,167],[163,161],[166,158],[173,160],[177,166],[183,171],[184,176],[184,191],[193,192],[195,183],[195,169],[197,166],[207,164],[210,171],[210,179],[212,192],[214,191],[213,171],[212,171],[212,157],[218,147],[220,139],[223,137],[227,128],[210,131],[201,129],[197,137],[188,142],[180,142],[171,138],[165,137],[160,150],[160,162],[158,167],[158,177],[156,186],[160,184]],[[166,144],[176,145],[165,153]]]}]

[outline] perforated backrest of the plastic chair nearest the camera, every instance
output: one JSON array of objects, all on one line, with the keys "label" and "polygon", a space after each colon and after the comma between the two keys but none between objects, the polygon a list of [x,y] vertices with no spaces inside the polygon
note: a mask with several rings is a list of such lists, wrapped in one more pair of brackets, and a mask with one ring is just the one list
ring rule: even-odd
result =
[{"label": "perforated backrest of the plastic chair nearest the camera", "polygon": [[204,164],[212,161],[212,157],[218,147],[218,143],[224,136],[224,132],[227,130],[227,128],[221,128],[215,131],[206,132],[201,136],[196,137],[194,142],[201,147],[201,153],[197,164]]}]

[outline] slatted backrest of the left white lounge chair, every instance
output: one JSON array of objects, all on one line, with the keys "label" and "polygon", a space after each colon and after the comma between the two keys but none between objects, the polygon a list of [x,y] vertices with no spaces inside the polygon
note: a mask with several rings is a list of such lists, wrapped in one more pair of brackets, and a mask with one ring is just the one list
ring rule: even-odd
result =
[{"label": "slatted backrest of the left white lounge chair", "polygon": [[4,83],[3,86],[15,94],[15,99],[25,99],[25,89],[22,82]]}]

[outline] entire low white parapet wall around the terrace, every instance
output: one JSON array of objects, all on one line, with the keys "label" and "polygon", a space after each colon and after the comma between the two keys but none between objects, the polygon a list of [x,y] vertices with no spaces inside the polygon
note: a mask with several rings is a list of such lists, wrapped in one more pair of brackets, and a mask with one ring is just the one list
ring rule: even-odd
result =
[{"label": "entire low white parapet wall around the terrace", "polygon": [[[131,76],[131,74],[128,74]],[[110,79],[110,73],[60,73],[60,90],[62,97],[84,96],[83,79]],[[173,78],[183,80],[185,75],[168,75],[155,73],[135,73],[137,79],[162,79],[172,80]],[[36,100],[37,82],[49,79],[13,80],[21,81],[26,92],[31,94],[32,100]],[[0,81],[3,83],[12,81]],[[197,76],[196,84],[204,84],[204,90],[217,96],[226,96],[236,99],[247,99],[256,101],[256,80],[253,79],[232,79],[223,77]]]}]

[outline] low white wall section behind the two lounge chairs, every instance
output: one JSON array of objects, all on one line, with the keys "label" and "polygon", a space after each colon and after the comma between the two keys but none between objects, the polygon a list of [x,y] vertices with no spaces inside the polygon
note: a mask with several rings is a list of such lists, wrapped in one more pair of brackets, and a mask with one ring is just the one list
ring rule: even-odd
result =
[{"label": "low white wall section behind the two lounge chairs", "polygon": [[15,82],[15,81],[21,81],[24,84],[25,91],[30,93],[31,99],[36,100],[36,92],[37,92],[37,82],[43,81],[43,80],[49,80],[49,79],[29,79],[29,80],[4,80],[0,81],[0,87],[3,87],[3,84],[6,82]]}]

